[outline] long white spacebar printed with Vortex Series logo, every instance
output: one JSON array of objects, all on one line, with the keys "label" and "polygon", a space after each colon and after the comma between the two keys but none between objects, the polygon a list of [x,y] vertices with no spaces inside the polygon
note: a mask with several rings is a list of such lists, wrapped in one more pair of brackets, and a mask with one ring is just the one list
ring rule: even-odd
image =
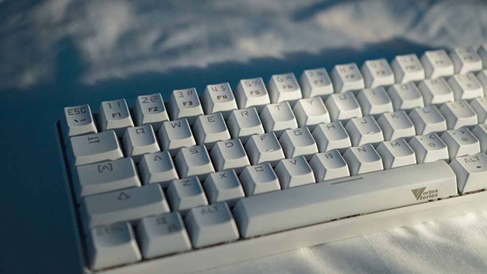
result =
[{"label": "long white spacebar printed with Vortex Series logo", "polygon": [[437,161],[247,197],[233,215],[248,238],[456,194],[455,173]]}]

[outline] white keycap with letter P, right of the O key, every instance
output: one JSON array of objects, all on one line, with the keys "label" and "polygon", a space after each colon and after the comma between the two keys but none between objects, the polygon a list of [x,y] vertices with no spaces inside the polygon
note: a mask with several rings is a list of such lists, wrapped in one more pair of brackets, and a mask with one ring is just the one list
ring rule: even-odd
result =
[{"label": "white keycap with letter P, right of the O key", "polygon": [[419,82],[417,88],[423,96],[425,106],[439,105],[455,100],[453,90],[451,90],[447,80],[443,77],[422,80]]}]

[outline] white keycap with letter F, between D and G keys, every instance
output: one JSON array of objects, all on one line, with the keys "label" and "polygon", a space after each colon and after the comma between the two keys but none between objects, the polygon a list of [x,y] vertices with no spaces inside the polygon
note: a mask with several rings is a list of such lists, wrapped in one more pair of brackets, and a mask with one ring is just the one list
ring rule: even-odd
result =
[{"label": "white keycap with letter F, between D and G keys", "polygon": [[269,162],[274,167],[284,159],[284,152],[274,132],[251,136],[245,144],[245,151],[252,165]]}]

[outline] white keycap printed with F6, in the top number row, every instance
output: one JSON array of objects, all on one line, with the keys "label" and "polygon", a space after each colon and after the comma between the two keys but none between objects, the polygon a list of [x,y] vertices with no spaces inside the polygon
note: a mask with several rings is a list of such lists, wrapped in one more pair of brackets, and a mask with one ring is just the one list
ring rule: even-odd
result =
[{"label": "white keycap printed with F6, in the top number row", "polygon": [[294,73],[272,75],[267,83],[272,103],[289,101],[291,105],[302,98],[301,89]]}]

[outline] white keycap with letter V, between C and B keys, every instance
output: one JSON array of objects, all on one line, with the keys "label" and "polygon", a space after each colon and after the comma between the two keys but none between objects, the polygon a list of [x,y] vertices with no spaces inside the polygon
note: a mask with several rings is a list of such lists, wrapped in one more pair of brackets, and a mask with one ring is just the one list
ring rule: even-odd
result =
[{"label": "white keycap with letter V, between C and B keys", "polygon": [[315,183],[315,174],[303,156],[282,159],[274,168],[281,189]]}]

